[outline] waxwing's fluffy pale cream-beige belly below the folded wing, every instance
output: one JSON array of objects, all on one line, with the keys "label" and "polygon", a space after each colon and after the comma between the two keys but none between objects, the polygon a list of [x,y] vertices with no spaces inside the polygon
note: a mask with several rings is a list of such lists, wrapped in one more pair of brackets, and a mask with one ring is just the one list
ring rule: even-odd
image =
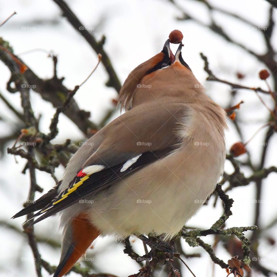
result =
[{"label": "waxwing's fluffy pale cream-beige belly below the folded wing", "polygon": [[[196,155],[204,155],[205,163],[194,164]],[[103,235],[174,236],[213,192],[218,163],[209,151],[171,154],[97,194],[89,206],[90,220]]]}]

